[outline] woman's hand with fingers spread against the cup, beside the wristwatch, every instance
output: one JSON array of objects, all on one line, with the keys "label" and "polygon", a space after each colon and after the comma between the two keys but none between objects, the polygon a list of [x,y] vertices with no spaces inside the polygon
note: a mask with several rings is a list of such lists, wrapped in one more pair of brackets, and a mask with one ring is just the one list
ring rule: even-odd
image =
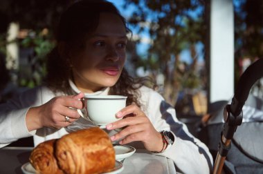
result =
[{"label": "woman's hand with fingers spread against the cup, beside the wristwatch", "polygon": [[123,119],[107,125],[107,130],[123,128],[116,135],[111,136],[111,141],[120,140],[120,144],[141,141],[148,151],[161,151],[163,148],[163,139],[161,133],[158,133],[149,118],[135,104],[123,108],[116,114]]}]

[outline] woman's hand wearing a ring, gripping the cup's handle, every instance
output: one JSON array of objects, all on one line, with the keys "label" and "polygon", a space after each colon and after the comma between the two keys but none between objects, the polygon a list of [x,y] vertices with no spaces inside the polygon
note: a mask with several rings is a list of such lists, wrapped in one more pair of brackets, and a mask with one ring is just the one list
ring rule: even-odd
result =
[{"label": "woman's hand wearing a ring, gripping the cup's handle", "polygon": [[[84,97],[84,93],[54,97],[42,106],[30,108],[26,114],[28,131],[42,127],[62,128],[69,126],[80,118],[78,111],[72,108],[83,108],[82,101],[80,101],[82,97]],[[68,121],[66,121],[66,117],[69,117]]]}]

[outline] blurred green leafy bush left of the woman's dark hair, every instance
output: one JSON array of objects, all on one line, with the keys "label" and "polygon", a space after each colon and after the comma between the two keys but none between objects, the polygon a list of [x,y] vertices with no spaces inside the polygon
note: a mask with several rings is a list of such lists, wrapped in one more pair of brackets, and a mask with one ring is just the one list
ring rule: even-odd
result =
[{"label": "blurred green leafy bush left of the woman's dark hair", "polygon": [[46,54],[55,46],[51,32],[47,28],[41,32],[29,30],[28,35],[19,40],[20,50],[28,52],[27,54],[24,53],[26,55],[24,62],[26,61],[26,63],[20,64],[17,73],[17,84],[19,86],[33,88],[42,84],[46,76]]}]

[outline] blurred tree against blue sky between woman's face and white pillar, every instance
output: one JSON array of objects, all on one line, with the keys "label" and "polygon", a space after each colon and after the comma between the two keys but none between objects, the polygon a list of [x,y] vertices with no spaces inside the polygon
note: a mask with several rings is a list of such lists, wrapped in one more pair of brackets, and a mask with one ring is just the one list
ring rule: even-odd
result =
[{"label": "blurred tree against blue sky between woman's face and white pillar", "polygon": [[[136,6],[136,10],[129,23],[134,28],[138,26],[141,33],[148,32],[152,39],[147,58],[141,59],[137,66],[163,73],[165,99],[174,106],[180,90],[203,88],[197,73],[196,45],[204,43],[205,39],[204,3],[198,0],[127,0],[124,8],[131,5]],[[180,59],[185,49],[190,50],[190,64]]]}]

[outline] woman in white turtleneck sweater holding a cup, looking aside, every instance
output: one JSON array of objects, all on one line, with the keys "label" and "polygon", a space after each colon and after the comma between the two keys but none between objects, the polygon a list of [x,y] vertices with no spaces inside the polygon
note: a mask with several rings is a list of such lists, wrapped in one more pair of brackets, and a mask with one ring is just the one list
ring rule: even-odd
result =
[{"label": "woman in white turtleneck sweater holding a cup, looking aside", "polygon": [[[107,1],[79,1],[62,14],[57,47],[48,56],[46,86],[23,93],[1,107],[1,146],[21,137],[34,136],[35,145],[58,138],[83,120],[84,95],[125,95],[123,117],[107,125],[111,140],[132,144],[174,160],[183,173],[209,173],[208,148],[176,119],[175,110],[158,93],[127,74],[125,19]],[[71,108],[69,108],[71,107]],[[8,125],[8,126],[7,126]],[[89,122],[89,125],[93,126]]]}]

